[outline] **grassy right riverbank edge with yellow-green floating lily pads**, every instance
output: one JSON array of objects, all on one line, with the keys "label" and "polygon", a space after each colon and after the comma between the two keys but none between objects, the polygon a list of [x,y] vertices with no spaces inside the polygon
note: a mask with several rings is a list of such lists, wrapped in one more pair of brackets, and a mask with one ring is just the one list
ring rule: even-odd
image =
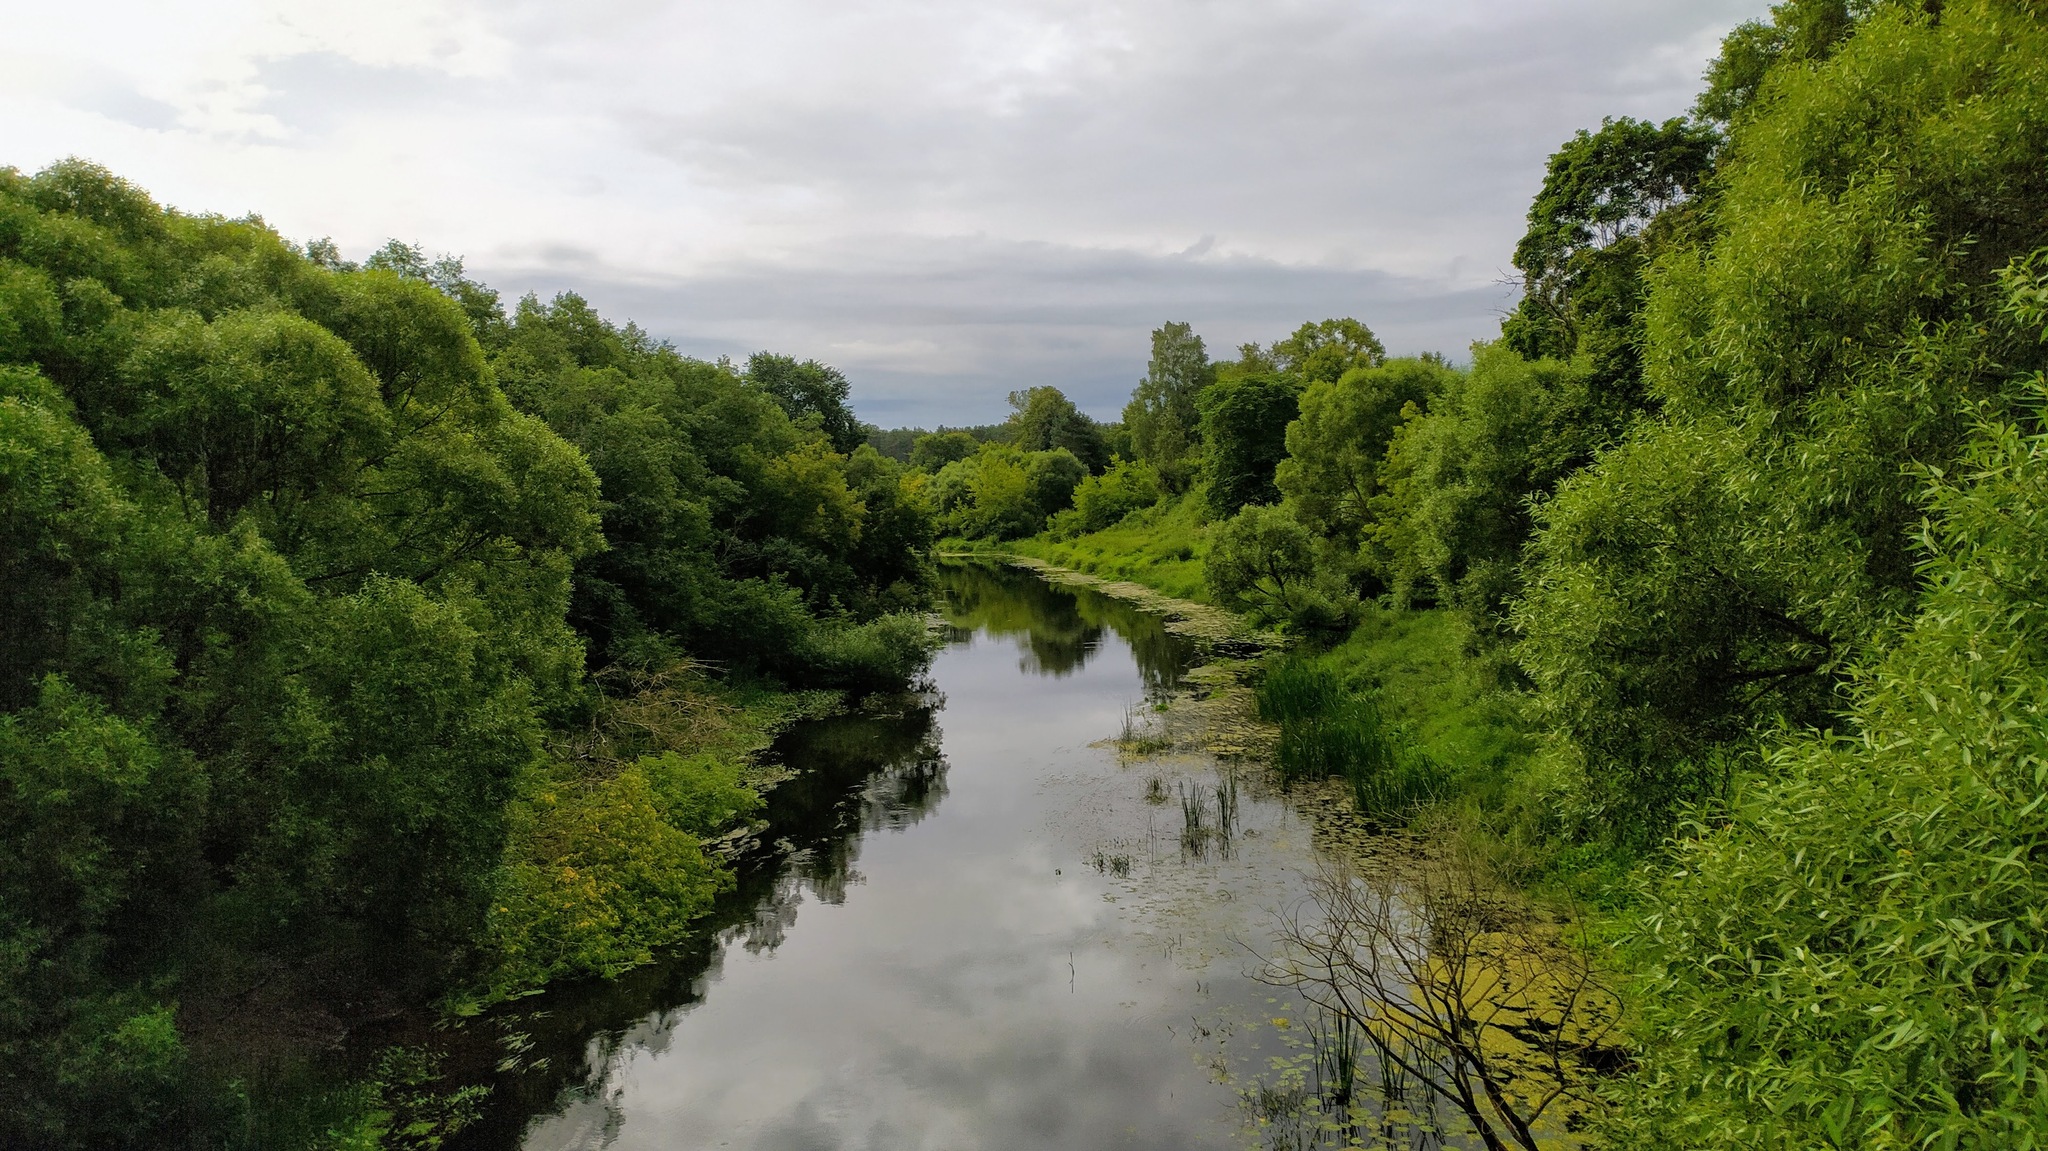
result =
[{"label": "grassy right riverbank edge with yellow-green floating lily pads", "polygon": [[[1401,1045],[1460,1049],[1460,1036],[1477,1036],[1446,1069],[1460,1059],[1473,1065],[1491,1061],[1475,1083],[1487,1083],[1511,1102],[1505,1108],[1473,1104],[1468,1122],[1528,1120],[1544,1147],[1585,1143],[1583,1133],[1602,1116],[1602,1075],[1626,1065],[1620,1047],[1628,1018],[1620,995],[1624,979],[1599,946],[1614,924],[1583,909],[1581,889],[1587,885],[1575,883],[1575,872],[1559,872],[1554,858],[1532,854],[1528,844],[1491,825],[1489,815],[1501,809],[1511,780],[1526,768],[1534,739],[1499,688],[1495,670],[1470,655],[1454,614],[1370,608],[1341,643],[1288,649],[1288,637],[1133,580],[1104,580],[987,549],[971,555],[999,559],[1051,584],[1141,604],[1176,619],[1169,627],[1188,637],[1257,641],[1245,647],[1210,643],[1178,690],[1141,713],[1126,713],[1122,731],[1104,743],[1118,750],[1126,768],[1149,776],[1153,803],[1180,799],[1188,809],[1184,836],[1196,836],[1196,842],[1208,834],[1202,827],[1202,819],[1210,817],[1202,795],[1214,774],[1229,780],[1233,797],[1245,786],[1247,795],[1284,805],[1315,844],[1319,862],[1313,875],[1296,881],[1305,881],[1300,905],[1313,907],[1307,922],[1317,926],[1305,930],[1303,920],[1284,913],[1280,936],[1266,944],[1272,950],[1262,952],[1266,977],[1300,991],[1313,1010],[1300,1018],[1282,1010],[1276,1018],[1235,1024],[1276,1028],[1274,1040],[1294,1045],[1290,1055],[1272,1059],[1264,1071],[1235,1071],[1264,1145],[1319,1147],[1323,1135],[1348,1131],[1354,1094],[1372,1100],[1380,1114],[1444,1102],[1427,1090],[1415,1094],[1415,1083],[1403,1085],[1399,1075],[1374,1085],[1354,1083],[1350,1071],[1331,1065],[1329,1055],[1333,1034],[1337,1042],[1352,1042],[1341,1038],[1348,1026],[1391,1045],[1372,1053],[1382,1069],[1403,1057]],[[1356,774],[1288,772],[1282,745],[1290,719],[1272,715],[1272,700],[1262,696],[1272,674],[1284,670],[1280,674],[1298,676],[1305,668],[1341,688],[1346,698],[1335,707],[1364,705],[1374,721],[1384,723],[1384,737],[1403,748],[1399,762],[1421,764],[1434,774],[1425,805],[1389,811],[1368,799],[1368,793],[1384,797],[1386,788],[1360,786]],[[1391,768],[1395,762],[1380,764],[1380,770]],[[1214,784],[1214,819],[1227,823],[1225,811],[1235,801],[1227,801],[1223,788]],[[1130,866],[1126,854],[1096,856],[1098,870]],[[1354,887],[1352,877],[1364,879],[1364,887]],[[1274,881],[1262,877],[1262,883]],[[1610,885],[1610,879],[1597,879],[1591,889],[1599,893]],[[1380,895],[1358,899],[1358,891]],[[1149,905],[1171,903],[1159,891],[1143,893],[1143,899]],[[1194,897],[1196,903],[1200,899]],[[1415,936],[1417,924],[1423,924],[1421,936]],[[1352,934],[1376,940],[1382,967],[1364,975],[1356,969],[1315,975],[1319,950]],[[1300,963],[1307,967],[1296,967]],[[1421,1006],[1399,1012],[1350,999],[1356,993],[1399,997],[1417,985],[1434,985],[1446,995],[1411,995],[1411,1004]],[[1352,1006],[1346,1006],[1348,999]],[[1331,1116],[1346,1118],[1333,1122]]]}]

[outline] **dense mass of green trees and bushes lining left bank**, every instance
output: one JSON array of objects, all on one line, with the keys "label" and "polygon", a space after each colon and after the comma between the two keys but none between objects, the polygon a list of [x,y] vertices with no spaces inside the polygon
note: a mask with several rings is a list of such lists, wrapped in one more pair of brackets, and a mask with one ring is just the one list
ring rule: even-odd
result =
[{"label": "dense mass of green trees and bushes lining left bank", "polygon": [[928,657],[922,483],[834,369],[0,170],[0,1143],[436,1145],[313,1067],[680,940]]}]

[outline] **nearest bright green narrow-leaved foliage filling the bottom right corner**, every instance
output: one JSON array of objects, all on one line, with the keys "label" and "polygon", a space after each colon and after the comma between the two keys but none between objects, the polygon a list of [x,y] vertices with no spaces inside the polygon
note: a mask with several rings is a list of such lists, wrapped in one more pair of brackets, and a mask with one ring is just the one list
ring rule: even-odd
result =
[{"label": "nearest bright green narrow-leaved foliage filling the bottom right corner", "polygon": [[1853,676],[1845,733],[1774,735],[1767,776],[1657,868],[1616,1143],[2040,1137],[2048,440],[1985,426],[1929,512],[1919,610]]}]

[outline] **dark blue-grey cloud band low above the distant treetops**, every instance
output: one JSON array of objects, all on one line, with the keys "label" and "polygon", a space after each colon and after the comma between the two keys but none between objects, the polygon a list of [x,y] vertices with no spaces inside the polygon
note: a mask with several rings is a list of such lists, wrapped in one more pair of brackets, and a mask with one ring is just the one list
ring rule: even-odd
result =
[{"label": "dark blue-grey cloud band low above the distant treetops", "polygon": [[1147,256],[987,240],[879,244],[811,264],[676,279],[604,268],[475,268],[510,295],[580,291],[610,315],[705,358],[762,348],[842,365],[879,424],[983,422],[1014,387],[1055,383],[1116,418],[1145,369],[1147,332],[1196,326],[1212,354],[1276,340],[1305,317],[1368,317],[1397,354],[1462,358],[1511,303],[1501,285],[1444,287],[1360,268],[1231,256]]}]

